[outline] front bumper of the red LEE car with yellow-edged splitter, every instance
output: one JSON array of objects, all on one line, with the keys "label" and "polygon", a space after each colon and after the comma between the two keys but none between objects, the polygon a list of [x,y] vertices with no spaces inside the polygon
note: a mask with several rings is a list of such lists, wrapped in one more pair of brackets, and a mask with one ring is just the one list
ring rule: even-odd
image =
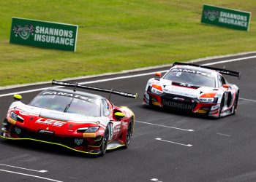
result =
[{"label": "front bumper of the red LEE car with yellow-edged splitter", "polygon": [[72,151],[79,151],[86,154],[99,154],[103,139],[101,136],[97,138],[74,138],[29,132],[24,128],[20,128],[10,122],[7,122],[7,119],[4,119],[0,136],[1,138],[9,140],[28,140],[54,144],[71,149]]}]

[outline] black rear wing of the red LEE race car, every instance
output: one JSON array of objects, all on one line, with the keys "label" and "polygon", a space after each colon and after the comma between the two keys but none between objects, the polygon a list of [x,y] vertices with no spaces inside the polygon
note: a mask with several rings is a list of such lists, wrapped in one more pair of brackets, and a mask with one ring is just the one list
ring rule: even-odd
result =
[{"label": "black rear wing of the red LEE race car", "polygon": [[121,95],[121,96],[124,96],[124,97],[127,97],[127,98],[135,98],[137,99],[138,98],[138,93],[127,93],[127,92],[120,92],[120,91],[116,91],[116,90],[108,90],[108,89],[103,89],[103,88],[98,88],[98,87],[90,87],[90,86],[86,86],[86,85],[82,85],[82,84],[79,84],[79,83],[69,83],[69,82],[61,82],[61,81],[57,81],[57,80],[52,80],[51,84],[57,84],[57,85],[61,85],[61,86],[64,86],[64,87],[73,87],[74,88],[74,91],[75,91],[75,88],[82,88],[82,89],[87,89],[87,90],[96,90],[96,91],[100,91],[100,92],[108,92],[110,94],[116,94],[116,95]]}]

